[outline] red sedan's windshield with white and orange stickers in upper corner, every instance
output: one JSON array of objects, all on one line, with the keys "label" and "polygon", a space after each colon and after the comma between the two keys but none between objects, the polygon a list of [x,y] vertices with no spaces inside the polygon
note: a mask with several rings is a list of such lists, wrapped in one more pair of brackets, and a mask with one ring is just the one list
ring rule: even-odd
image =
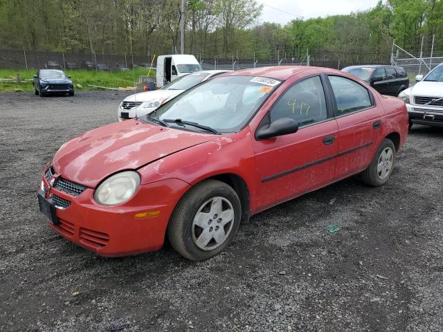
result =
[{"label": "red sedan's windshield with white and orange stickers in upper corner", "polygon": [[215,77],[163,104],[150,117],[197,122],[225,133],[237,131],[280,83],[266,77]]}]

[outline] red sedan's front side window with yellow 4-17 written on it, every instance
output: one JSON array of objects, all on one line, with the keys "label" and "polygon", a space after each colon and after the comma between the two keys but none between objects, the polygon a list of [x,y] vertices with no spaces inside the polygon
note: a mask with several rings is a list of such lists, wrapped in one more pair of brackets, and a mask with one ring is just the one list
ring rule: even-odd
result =
[{"label": "red sedan's front side window with yellow 4-17 written on it", "polygon": [[327,119],[325,91],[320,77],[310,77],[291,86],[269,113],[271,122],[293,118],[301,127]]}]

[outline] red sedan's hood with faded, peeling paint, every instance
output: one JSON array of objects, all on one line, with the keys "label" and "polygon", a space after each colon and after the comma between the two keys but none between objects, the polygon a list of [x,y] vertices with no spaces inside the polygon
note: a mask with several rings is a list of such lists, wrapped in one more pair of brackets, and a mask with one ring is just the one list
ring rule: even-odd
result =
[{"label": "red sedan's hood with faded, peeling paint", "polygon": [[116,122],[66,142],[53,158],[53,169],[63,178],[94,188],[111,174],[138,169],[217,137],[136,120]]}]

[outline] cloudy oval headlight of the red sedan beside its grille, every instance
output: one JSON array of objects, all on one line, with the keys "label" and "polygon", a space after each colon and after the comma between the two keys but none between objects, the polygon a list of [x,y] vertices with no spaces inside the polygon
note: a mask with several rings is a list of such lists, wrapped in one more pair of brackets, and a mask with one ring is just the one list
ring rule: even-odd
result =
[{"label": "cloudy oval headlight of the red sedan beside its grille", "polygon": [[120,172],[98,186],[94,199],[100,205],[117,205],[130,199],[139,185],[140,175],[137,172]]}]

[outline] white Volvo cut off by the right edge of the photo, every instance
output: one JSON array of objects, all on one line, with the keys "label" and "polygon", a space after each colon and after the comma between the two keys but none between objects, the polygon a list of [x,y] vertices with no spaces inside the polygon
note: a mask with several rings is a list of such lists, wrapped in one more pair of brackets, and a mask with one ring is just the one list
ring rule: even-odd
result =
[{"label": "white Volvo cut off by the right edge of the photo", "polygon": [[415,80],[415,86],[399,94],[408,108],[409,127],[415,123],[443,127],[443,64]]}]

